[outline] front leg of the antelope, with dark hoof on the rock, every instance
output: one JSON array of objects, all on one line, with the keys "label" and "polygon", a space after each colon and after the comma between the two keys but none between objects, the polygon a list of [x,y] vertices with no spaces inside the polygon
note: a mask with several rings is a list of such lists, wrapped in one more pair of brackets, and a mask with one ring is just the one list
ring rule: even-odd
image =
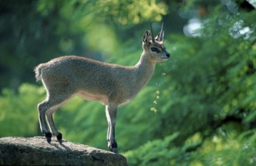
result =
[{"label": "front leg of the antelope, with dark hoof on the rock", "polygon": [[118,106],[106,106],[106,119],[109,124],[106,140],[108,142],[109,150],[111,152],[118,152],[117,143],[115,139],[116,126],[116,112]]}]

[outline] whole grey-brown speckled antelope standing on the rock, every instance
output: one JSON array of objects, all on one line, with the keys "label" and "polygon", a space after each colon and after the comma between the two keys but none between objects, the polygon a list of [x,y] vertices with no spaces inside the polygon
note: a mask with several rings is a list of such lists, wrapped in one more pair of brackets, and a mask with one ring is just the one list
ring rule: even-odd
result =
[{"label": "whole grey-brown speckled antelope standing on the rock", "polygon": [[[66,56],[35,67],[35,77],[42,80],[47,91],[47,98],[39,103],[38,109],[40,128],[48,143],[51,143],[51,132],[60,143],[62,141],[62,134],[57,131],[52,118],[54,111],[78,95],[85,100],[97,100],[106,105],[108,146],[111,151],[117,152],[115,124],[118,106],[131,101],[150,80],[156,63],[170,57],[162,45],[163,31],[156,38],[150,34],[150,31],[146,31],[143,36],[143,53],[135,66]],[[51,132],[48,131],[46,118]]]}]

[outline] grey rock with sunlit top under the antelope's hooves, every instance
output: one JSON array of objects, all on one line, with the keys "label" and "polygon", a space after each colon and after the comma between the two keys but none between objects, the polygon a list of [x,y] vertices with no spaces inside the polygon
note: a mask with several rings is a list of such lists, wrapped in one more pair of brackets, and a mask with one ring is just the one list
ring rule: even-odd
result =
[{"label": "grey rock with sunlit top under the antelope's hooves", "polygon": [[0,165],[128,165],[118,153],[45,137],[0,138]]}]

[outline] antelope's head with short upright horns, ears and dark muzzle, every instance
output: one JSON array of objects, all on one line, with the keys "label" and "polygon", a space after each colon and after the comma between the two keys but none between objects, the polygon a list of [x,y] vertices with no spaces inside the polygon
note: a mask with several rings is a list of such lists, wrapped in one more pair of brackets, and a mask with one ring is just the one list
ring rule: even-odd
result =
[{"label": "antelope's head with short upright horns, ears and dark muzzle", "polygon": [[158,35],[156,35],[156,38],[153,37],[153,29],[150,23],[150,29],[145,32],[142,38],[142,47],[143,50],[150,55],[153,61],[156,62],[161,62],[164,60],[167,60],[170,57],[170,54],[168,51],[165,50],[165,45],[164,45],[164,35],[165,32],[162,30],[163,29],[163,23],[162,23],[162,28],[161,31],[159,32]]}]

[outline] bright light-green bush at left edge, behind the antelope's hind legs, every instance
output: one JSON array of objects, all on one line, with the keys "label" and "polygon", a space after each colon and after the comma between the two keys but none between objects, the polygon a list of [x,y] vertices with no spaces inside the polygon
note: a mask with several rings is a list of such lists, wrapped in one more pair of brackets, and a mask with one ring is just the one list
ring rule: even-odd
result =
[{"label": "bright light-green bush at left edge, behind the antelope's hind legs", "polygon": [[0,96],[0,137],[38,134],[37,103],[43,97],[44,88],[35,85],[23,84],[17,92],[4,89]]}]

